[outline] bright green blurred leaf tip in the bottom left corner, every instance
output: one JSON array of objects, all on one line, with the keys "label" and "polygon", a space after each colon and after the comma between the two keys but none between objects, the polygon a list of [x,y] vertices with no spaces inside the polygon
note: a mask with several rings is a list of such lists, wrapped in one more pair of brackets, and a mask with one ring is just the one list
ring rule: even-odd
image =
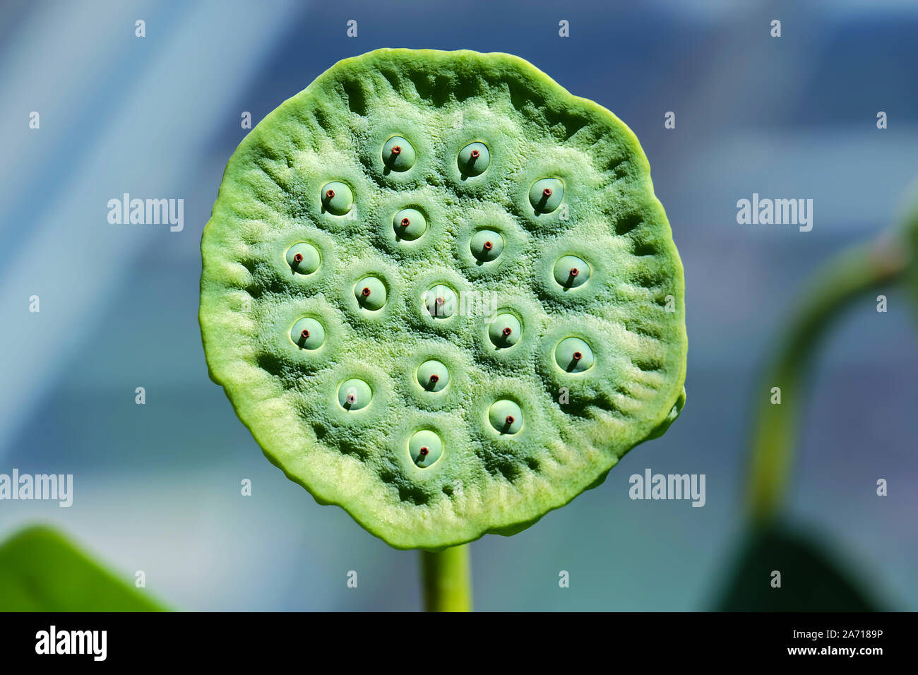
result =
[{"label": "bright green blurred leaf tip in the bottom left corner", "polygon": [[29,527],[0,546],[0,612],[162,612],[47,527]]}]

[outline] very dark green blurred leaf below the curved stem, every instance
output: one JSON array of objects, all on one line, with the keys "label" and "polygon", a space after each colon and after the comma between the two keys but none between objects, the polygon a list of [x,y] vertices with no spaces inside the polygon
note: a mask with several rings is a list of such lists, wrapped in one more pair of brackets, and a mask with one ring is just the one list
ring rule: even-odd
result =
[{"label": "very dark green blurred leaf below the curved stem", "polygon": [[[781,587],[772,588],[772,570]],[[878,612],[870,594],[812,536],[771,525],[746,535],[715,610]]]}]

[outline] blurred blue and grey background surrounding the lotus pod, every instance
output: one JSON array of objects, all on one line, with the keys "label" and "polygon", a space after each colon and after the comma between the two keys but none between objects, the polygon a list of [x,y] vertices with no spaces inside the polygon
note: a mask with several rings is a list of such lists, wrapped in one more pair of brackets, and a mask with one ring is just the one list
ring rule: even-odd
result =
[{"label": "blurred blue and grey background surrounding the lotus pod", "polygon": [[[509,51],[609,107],[644,146],[686,268],[687,406],[599,489],[476,542],[480,610],[709,606],[742,524],[763,359],[814,269],[886,227],[918,173],[911,0],[7,0],[0,12],[0,473],[75,484],[70,509],[0,501],[0,538],[56,524],[184,609],[420,607],[417,554],[288,482],[207,378],[198,245],[242,111],[255,123],[378,47]],[[125,192],[184,198],[185,230],[109,224],[107,200]],[[736,200],[754,192],[812,198],[812,231],[738,225]],[[885,606],[915,610],[918,333],[908,298],[888,295],[888,313],[867,298],[824,345],[788,512]],[[629,500],[645,467],[706,474],[706,506]]]}]

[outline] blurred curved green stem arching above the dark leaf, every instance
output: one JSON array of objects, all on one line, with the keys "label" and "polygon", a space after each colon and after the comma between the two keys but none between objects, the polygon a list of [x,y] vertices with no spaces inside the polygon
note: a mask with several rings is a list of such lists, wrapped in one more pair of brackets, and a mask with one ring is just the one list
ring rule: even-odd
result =
[{"label": "blurred curved green stem arching above the dark leaf", "polygon": [[[786,337],[766,370],[756,411],[749,509],[756,525],[770,523],[787,491],[793,446],[803,407],[805,380],[820,339],[855,298],[901,276],[901,245],[881,240],[855,246],[825,264],[788,322]],[[772,388],[780,388],[773,404]]]}]

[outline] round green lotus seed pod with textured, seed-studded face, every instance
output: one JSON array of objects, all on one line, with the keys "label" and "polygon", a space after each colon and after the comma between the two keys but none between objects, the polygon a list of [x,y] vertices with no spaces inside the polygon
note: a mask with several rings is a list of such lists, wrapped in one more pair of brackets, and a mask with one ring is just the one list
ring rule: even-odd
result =
[{"label": "round green lotus seed pod with textured, seed-studded face", "polygon": [[[644,152],[509,54],[338,62],[241,142],[201,250],[210,376],[288,478],[392,546],[518,532],[685,400],[682,266]],[[306,318],[315,348],[291,334]]]}]

